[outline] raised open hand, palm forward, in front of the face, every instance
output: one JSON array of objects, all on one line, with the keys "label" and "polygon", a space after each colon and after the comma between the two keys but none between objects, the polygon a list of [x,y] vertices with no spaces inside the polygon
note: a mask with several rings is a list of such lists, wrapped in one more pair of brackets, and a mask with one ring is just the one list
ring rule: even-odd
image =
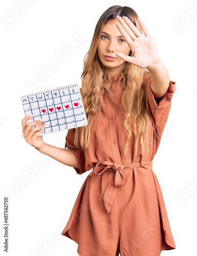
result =
[{"label": "raised open hand, palm forward, in front of the face", "polygon": [[117,52],[116,55],[124,61],[130,62],[140,68],[148,69],[154,67],[160,61],[160,57],[155,41],[142,19],[139,19],[139,23],[145,36],[140,33],[127,17],[124,16],[124,19],[120,16],[118,17],[116,27],[132,51],[132,56],[120,52]]}]

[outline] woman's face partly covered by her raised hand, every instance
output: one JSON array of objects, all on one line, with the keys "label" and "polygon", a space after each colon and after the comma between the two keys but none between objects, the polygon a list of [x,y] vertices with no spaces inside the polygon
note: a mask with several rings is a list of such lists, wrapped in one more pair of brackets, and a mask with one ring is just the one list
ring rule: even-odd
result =
[{"label": "woman's face partly covered by her raised hand", "polygon": [[[108,70],[112,71],[115,69],[117,71],[119,70],[118,72],[121,73],[126,62],[116,56],[115,53],[121,52],[125,55],[129,55],[130,48],[116,27],[115,22],[116,19],[113,19],[103,25],[98,44],[98,56],[100,61]],[[104,57],[106,55],[114,58],[107,59]]]}]

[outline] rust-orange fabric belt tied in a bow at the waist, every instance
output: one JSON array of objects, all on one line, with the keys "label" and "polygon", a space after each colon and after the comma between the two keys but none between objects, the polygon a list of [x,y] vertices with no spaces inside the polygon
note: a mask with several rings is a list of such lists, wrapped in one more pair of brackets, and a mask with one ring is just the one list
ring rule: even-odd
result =
[{"label": "rust-orange fabric belt tied in a bow at the waist", "polygon": [[116,195],[117,187],[125,185],[123,169],[133,169],[142,166],[151,170],[152,160],[147,162],[136,162],[128,165],[122,165],[108,161],[100,161],[98,163],[90,163],[90,165],[93,167],[93,171],[89,174],[89,176],[92,176],[93,174],[101,175],[106,170],[116,172],[115,179],[112,179],[112,175],[110,175],[107,182],[107,187],[103,195],[105,209],[107,212],[110,212]]}]

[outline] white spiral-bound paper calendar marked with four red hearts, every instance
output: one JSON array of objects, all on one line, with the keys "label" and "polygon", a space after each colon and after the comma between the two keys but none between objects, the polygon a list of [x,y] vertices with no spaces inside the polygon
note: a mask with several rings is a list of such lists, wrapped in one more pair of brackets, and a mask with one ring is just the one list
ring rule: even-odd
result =
[{"label": "white spiral-bound paper calendar marked with four red hearts", "polygon": [[83,101],[77,83],[30,93],[21,96],[21,101],[25,115],[33,115],[33,118],[27,121],[28,123],[38,119],[43,119],[43,122],[46,123],[40,135],[87,125]]}]

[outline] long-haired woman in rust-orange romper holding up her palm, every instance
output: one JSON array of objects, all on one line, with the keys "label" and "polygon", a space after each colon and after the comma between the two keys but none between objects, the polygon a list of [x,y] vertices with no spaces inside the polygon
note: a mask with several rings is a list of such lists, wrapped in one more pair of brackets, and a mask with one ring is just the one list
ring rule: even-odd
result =
[{"label": "long-haired woman in rust-orange romper holding up her palm", "polygon": [[23,136],[38,151],[77,174],[93,168],[62,235],[81,256],[158,256],[176,248],[152,170],[176,82],[132,8],[112,6],[101,15],[81,78],[88,124],[68,131],[68,150],[38,137],[41,121],[22,120]]}]

